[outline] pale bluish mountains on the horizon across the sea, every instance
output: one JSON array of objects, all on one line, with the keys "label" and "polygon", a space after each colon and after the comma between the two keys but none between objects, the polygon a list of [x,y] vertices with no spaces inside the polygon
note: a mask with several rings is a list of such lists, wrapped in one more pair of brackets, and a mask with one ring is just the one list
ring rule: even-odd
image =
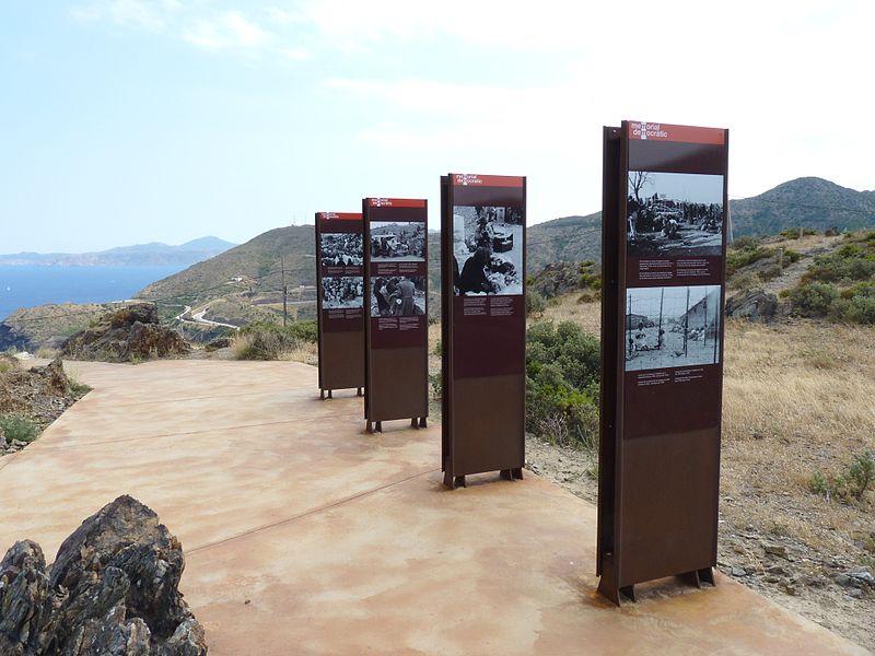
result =
[{"label": "pale bluish mountains on the horizon across the sea", "polygon": [[118,246],[97,253],[18,253],[0,255],[3,266],[38,267],[172,267],[194,265],[233,247],[219,237],[200,237],[179,246],[160,242]]}]

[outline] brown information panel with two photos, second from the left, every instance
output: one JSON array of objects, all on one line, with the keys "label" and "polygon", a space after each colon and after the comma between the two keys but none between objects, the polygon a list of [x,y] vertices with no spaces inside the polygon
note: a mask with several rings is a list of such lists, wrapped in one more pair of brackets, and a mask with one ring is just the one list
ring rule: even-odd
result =
[{"label": "brown information panel with two photos, second from the left", "polygon": [[365,198],[365,419],[368,430],[409,419],[424,426],[428,398],[428,207]]}]

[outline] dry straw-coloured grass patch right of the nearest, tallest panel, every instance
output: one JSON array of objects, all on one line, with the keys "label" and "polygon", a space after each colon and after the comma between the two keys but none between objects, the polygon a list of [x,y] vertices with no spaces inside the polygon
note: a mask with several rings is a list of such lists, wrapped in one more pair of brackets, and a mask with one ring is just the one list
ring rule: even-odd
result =
[{"label": "dry straw-coloured grass patch right of the nearest, tallest panel", "polygon": [[808,491],[815,471],[841,471],[875,450],[875,330],[802,323],[726,326],[724,507],[778,525],[813,548],[845,551],[873,527],[873,493],[838,503]]}]

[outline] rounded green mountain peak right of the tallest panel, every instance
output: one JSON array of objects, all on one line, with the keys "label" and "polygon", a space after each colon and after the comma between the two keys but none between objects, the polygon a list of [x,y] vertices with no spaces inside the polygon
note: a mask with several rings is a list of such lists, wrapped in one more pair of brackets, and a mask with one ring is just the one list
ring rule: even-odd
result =
[{"label": "rounded green mountain peak right of the tallest panel", "polygon": [[778,185],[730,202],[733,236],[774,235],[786,227],[839,232],[875,227],[875,191],[855,191],[817,177]]}]

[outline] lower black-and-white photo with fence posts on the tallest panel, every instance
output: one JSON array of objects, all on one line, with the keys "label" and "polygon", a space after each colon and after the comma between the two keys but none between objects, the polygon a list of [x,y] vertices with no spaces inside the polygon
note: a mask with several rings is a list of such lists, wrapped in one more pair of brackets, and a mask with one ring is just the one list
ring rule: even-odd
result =
[{"label": "lower black-and-white photo with fence posts on the tallest panel", "polygon": [[720,285],[626,290],[626,371],[720,362]]}]

